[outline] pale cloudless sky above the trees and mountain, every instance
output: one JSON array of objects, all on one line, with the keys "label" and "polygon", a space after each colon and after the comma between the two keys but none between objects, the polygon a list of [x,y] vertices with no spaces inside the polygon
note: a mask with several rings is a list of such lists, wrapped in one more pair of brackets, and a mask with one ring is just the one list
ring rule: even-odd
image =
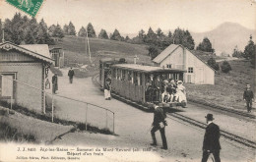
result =
[{"label": "pale cloudless sky above the trees and mountain", "polygon": [[[16,12],[0,0],[2,20],[13,18]],[[256,0],[44,0],[35,18],[43,18],[48,26],[58,23],[63,27],[71,21],[77,32],[92,23],[97,33],[101,28],[127,34],[140,29],[147,32],[149,27],[204,32],[224,22],[256,29]]]}]

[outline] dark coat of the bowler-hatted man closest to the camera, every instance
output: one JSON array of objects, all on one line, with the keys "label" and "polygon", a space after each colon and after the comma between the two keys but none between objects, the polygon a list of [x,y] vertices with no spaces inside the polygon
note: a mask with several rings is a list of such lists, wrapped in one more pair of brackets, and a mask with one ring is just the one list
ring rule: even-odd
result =
[{"label": "dark coat of the bowler-hatted man closest to the camera", "polygon": [[214,123],[211,123],[206,128],[206,133],[204,136],[203,150],[220,150],[220,128]]}]

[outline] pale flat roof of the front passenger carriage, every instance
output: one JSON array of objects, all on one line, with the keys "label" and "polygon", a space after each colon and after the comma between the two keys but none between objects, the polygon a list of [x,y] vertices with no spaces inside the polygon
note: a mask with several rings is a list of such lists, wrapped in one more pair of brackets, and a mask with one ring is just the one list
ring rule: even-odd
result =
[{"label": "pale flat roof of the front passenger carriage", "polygon": [[131,70],[135,72],[143,72],[143,73],[158,73],[158,72],[174,72],[174,73],[184,73],[186,71],[179,69],[168,69],[168,68],[160,68],[153,66],[145,66],[139,64],[115,64],[112,65],[114,68],[123,69],[123,70]]}]

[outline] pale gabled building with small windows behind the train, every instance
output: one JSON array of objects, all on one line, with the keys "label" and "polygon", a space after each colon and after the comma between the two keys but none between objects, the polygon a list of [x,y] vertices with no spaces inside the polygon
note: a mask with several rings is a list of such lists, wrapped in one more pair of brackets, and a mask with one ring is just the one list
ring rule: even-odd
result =
[{"label": "pale gabled building with small windows behind the train", "polygon": [[184,82],[215,84],[215,70],[182,45],[169,45],[153,62],[159,67],[186,71]]}]

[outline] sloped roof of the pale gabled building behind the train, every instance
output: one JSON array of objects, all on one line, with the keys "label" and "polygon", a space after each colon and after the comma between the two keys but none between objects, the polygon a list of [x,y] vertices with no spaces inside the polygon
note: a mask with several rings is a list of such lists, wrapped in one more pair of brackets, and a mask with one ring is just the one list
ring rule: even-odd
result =
[{"label": "sloped roof of the pale gabled building behind the train", "polygon": [[192,53],[196,58],[198,58],[200,61],[202,61],[206,66],[208,66],[209,68],[211,68],[213,71],[216,71],[215,69],[213,69],[212,67],[210,67],[208,64],[206,64],[206,62],[201,59],[198,55],[196,55],[194,53],[194,51],[189,50],[186,47],[183,47],[180,44],[170,44],[167,48],[165,48],[154,60],[153,62],[155,63],[160,63],[162,62],[166,57],[168,57],[169,55],[171,55],[178,47],[181,48],[185,48],[186,50],[188,50],[190,53]]}]

